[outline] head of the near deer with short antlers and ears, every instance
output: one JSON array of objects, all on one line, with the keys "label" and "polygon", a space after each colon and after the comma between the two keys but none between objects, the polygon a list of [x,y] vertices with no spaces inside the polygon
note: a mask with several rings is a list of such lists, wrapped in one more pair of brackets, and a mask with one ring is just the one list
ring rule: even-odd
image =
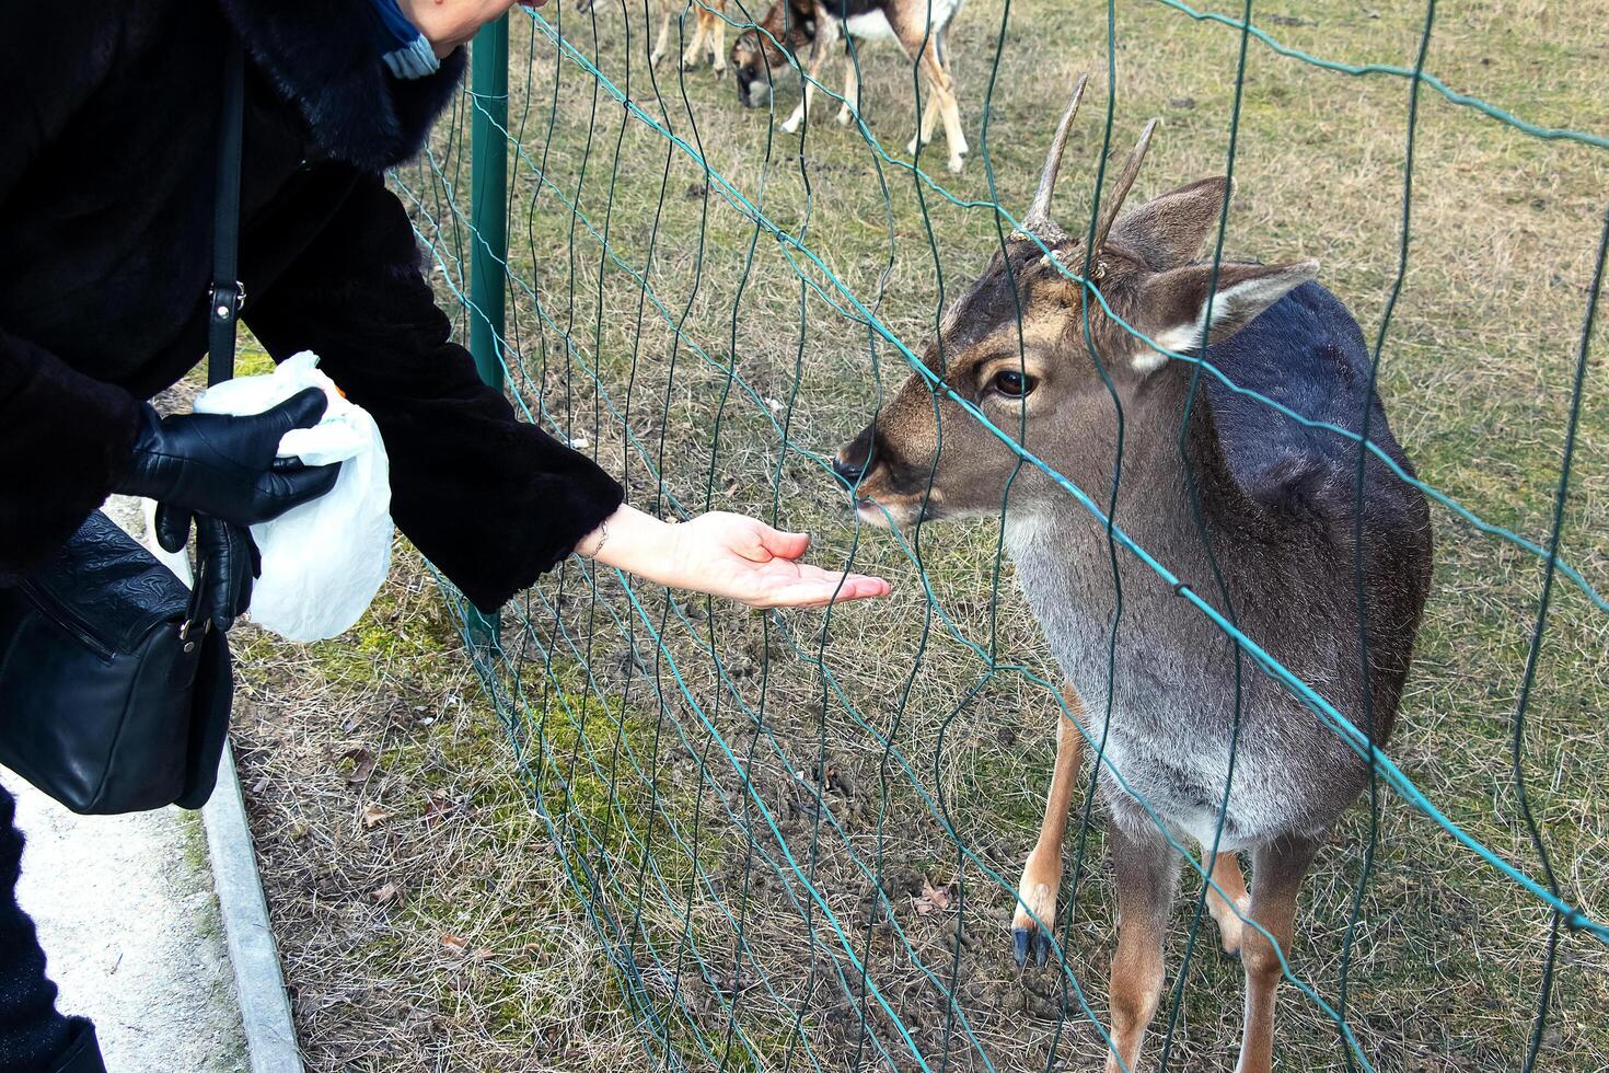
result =
[{"label": "head of the near deer with short antlers and ears", "polygon": [[[1022,227],[946,310],[922,362],[1001,431],[1088,491],[1110,479],[1117,444],[1112,394],[1089,343],[1130,415],[1144,412],[1158,378],[1183,376],[1186,367],[1168,362],[1115,323],[1062,272],[1062,265],[1073,272],[1084,265],[1083,236],[1068,236],[1051,219],[1067,132],[1084,82],[1080,79],[1062,114]],[[1102,206],[1091,278],[1113,314],[1167,349],[1187,352],[1204,346],[1212,286],[1212,265],[1194,259],[1229,187],[1224,179],[1202,179],[1123,212],[1155,125],[1155,119],[1146,125]],[[1224,262],[1212,298],[1212,341],[1223,343],[1316,272],[1315,261]],[[1146,450],[1147,444],[1136,442],[1144,425],[1131,418],[1128,428],[1126,449]],[[1173,450],[1173,441],[1165,447]],[[895,524],[904,526],[922,518],[998,513],[1015,463],[1017,454],[1006,442],[943,388],[914,373],[875,423],[838,452],[833,468],[856,486],[862,520],[885,524],[887,510]],[[1035,500],[1067,499],[1035,467],[1023,467],[1012,479],[1010,497],[1014,512],[1031,508]]]}]

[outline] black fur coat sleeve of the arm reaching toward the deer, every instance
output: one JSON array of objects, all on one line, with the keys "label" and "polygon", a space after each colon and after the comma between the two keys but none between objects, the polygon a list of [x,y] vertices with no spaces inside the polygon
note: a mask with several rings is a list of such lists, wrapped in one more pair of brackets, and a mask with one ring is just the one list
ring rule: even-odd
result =
[{"label": "black fur coat sleeve of the arm reaching toward the deer", "polygon": [[360,175],[314,245],[253,298],[246,323],[275,359],[314,351],[380,425],[391,512],[479,608],[552,569],[621,504],[586,455],[520,421],[449,339],[407,212]]}]

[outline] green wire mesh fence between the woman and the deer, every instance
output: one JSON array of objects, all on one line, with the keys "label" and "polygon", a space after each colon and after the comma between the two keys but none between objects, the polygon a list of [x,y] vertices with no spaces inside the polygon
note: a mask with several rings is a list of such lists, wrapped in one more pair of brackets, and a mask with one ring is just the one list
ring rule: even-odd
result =
[{"label": "green wire mesh fence between the woman and the deer", "polygon": [[[655,66],[656,5],[570,3],[483,32],[473,85],[394,175],[483,375],[644,510],[755,513],[813,531],[816,561],[896,584],[883,605],[758,613],[578,560],[496,621],[449,587],[570,877],[553,896],[584,906],[616,970],[608,1001],[640,1026],[648,1063],[1107,1060],[1113,894],[1088,771],[1057,917],[1043,922],[1049,964],[1012,957],[1017,877],[1068,703],[1010,584],[1001,518],[866,529],[830,465],[925,370],[920,343],[1018,227],[1054,114],[1093,69],[1104,121],[1073,132],[1081,162],[1062,199],[1086,208],[1064,204],[1068,232],[1080,214],[1094,227],[1123,132],[1162,113],[1149,191],[1236,179],[1215,273],[1226,248],[1326,261],[1419,476],[1366,436],[1173,357],[1360,444],[1360,491],[1371,452],[1434,505],[1432,605],[1397,737],[1374,750],[1326,682],[1286,669],[1270,639],[1123,532],[1117,481],[1047,473],[1105,526],[1113,563],[1142,563],[1232,640],[1247,674],[1279,682],[1372,763],[1302,901],[1276,1054],[1290,1068],[1609,1067],[1609,425],[1588,376],[1609,140],[1569,129],[1603,80],[1516,76],[1509,109],[1455,92],[1427,60],[1479,72],[1492,56],[1472,50],[1496,48],[1479,35],[1500,16],[1443,29],[1434,0],[1266,21],[1250,0],[1076,14],[973,0],[948,51],[975,154],[949,175],[932,169],[941,138],[914,158],[895,148],[927,92],[895,48],[848,47],[862,90],[846,129],[825,122],[845,98],[822,79],[816,111],[787,134],[803,53],[758,109],[730,77],[676,63],[702,16],[737,34],[764,8],[673,5]],[[1443,32],[1456,48],[1434,53]],[[1414,61],[1329,58],[1390,50]],[[1496,56],[1500,74],[1532,61],[1512,53]],[[1500,172],[1511,182],[1482,185]],[[1482,211],[1488,195],[1512,227]],[[1110,314],[1084,265],[1062,272]],[[927,376],[1018,467],[1047,471],[1031,442]],[[1241,967],[1202,927],[1208,848],[1170,841],[1195,896],[1181,899],[1142,1063],[1224,1068]]]}]

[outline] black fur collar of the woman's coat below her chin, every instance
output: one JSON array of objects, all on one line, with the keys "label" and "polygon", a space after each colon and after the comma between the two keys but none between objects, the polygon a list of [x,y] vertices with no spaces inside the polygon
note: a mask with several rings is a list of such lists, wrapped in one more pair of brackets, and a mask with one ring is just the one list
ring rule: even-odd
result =
[{"label": "black fur collar of the woman's coat below her chin", "polygon": [[418,153],[463,74],[463,48],[410,82],[380,61],[368,0],[219,0],[246,55],[328,156],[385,171]]}]

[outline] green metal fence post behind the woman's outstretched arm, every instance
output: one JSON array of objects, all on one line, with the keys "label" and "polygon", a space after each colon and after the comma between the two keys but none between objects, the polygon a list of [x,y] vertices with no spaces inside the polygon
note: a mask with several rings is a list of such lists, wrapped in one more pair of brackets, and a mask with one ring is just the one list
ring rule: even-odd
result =
[{"label": "green metal fence post behind the woman's outstretched arm", "polygon": [[[504,302],[508,259],[508,16],[481,29],[470,48],[470,354],[481,380],[504,386]],[[497,642],[497,615],[470,610],[476,648]]]}]

